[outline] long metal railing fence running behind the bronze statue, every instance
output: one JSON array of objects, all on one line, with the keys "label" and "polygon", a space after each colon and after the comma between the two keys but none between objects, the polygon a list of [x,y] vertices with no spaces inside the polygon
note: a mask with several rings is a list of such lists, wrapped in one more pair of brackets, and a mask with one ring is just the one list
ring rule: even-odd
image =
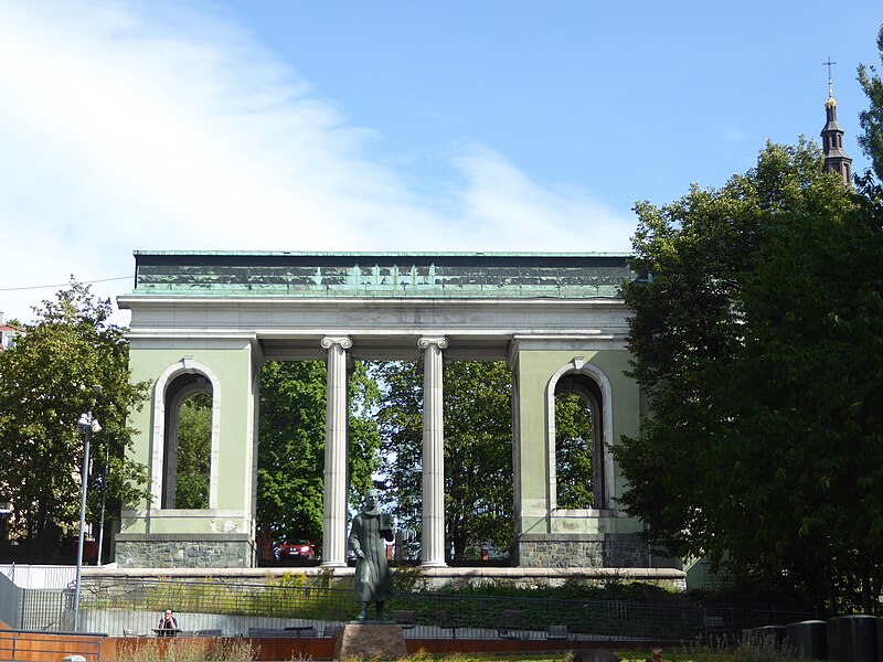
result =
[{"label": "long metal railing fence running behind the bronze statue", "polygon": [[[312,583],[310,583],[312,581]],[[70,629],[70,592],[25,591],[21,627]],[[159,615],[173,609],[183,633],[328,637],[359,612],[352,590],[321,580],[276,584],[177,579],[87,579],[81,628],[110,636],[153,634]],[[372,609],[373,613],[373,609]],[[409,638],[689,641],[813,618],[810,610],[693,604],[487,597],[400,592],[387,617]],[[39,623],[36,627],[34,624]]]}]

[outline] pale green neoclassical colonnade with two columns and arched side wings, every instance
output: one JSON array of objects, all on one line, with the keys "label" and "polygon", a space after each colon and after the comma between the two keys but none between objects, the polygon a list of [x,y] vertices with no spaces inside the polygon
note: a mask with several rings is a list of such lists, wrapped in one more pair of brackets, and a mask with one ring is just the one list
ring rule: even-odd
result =
[{"label": "pale green neoclassical colonnade with two columns and arched side wings", "polygon": [[[347,365],[416,360],[424,370],[422,564],[445,565],[444,364],[506,361],[511,369],[514,557],[522,567],[647,567],[641,523],[617,509],[623,478],[610,447],[636,435],[643,408],[626,375],[628,311],[619,286],[636,277],[619,254],[137,252],[132,378],[150,399],[132,423],[135,460],[152,500],[124,511],[124,567],[249,567],[260,366],[328,365],[322,564],[345,565]],[[178,412],[211,397],[206,509],[175,506]],[[592,410],[595,508],[558,508],[555,397]],[[587,479],[588,480],[588,479]]]}]

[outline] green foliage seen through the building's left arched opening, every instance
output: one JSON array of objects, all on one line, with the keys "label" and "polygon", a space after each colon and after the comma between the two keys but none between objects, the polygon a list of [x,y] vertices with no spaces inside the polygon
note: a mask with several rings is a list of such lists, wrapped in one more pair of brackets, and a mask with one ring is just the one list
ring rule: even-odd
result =
[{"label": "green foliage seen through the building's left arched opening", "polygon": [[187,398],[178,413],[175,508],[209,508],[211,450],[212,397],[198,393]]}]

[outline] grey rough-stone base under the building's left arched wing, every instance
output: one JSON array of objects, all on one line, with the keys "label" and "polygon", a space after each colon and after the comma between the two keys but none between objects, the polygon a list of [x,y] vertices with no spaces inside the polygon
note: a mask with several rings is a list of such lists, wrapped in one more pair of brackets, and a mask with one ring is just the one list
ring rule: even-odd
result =
[{"label": "grey rough-stone base under the building's left arched wing", "polygon": [[121,568],[249,568],[255,544],[243,533],[118,533]]}]

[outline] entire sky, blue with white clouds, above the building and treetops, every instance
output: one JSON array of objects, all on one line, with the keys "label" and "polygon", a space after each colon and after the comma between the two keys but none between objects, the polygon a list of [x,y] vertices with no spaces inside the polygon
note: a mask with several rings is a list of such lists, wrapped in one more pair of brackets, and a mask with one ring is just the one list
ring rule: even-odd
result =
[{"label": "entire sky, blue with white clouds, above the building and treetops", "polygon": [[0,0],[0,310],[71,274],[125,293],[135,249],[628,250],[635,201],[818,137],[829,55],[866,168],[882,22],[870,0]]}]

